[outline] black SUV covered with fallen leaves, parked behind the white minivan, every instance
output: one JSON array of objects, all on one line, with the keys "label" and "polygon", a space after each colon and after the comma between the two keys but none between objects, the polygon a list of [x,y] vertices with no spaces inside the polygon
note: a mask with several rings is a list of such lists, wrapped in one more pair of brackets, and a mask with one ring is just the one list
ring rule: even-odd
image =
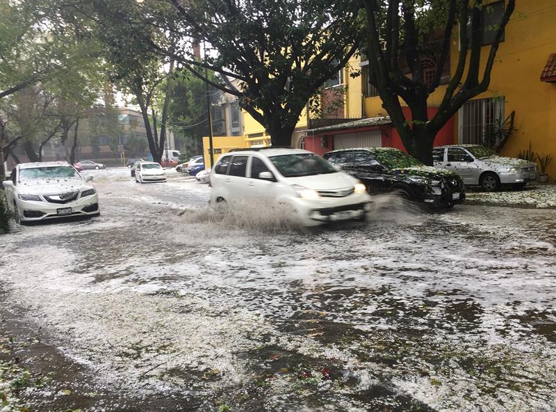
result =
[{"label": "black SUV covered with fallen leaves, parked behind the white minivan", "polygon": [[449,208],[465,199],[459,175],[425,166],[395,148],[334,150],[322,157],[357,177],[370,193],[393,191],[434,209]]}]

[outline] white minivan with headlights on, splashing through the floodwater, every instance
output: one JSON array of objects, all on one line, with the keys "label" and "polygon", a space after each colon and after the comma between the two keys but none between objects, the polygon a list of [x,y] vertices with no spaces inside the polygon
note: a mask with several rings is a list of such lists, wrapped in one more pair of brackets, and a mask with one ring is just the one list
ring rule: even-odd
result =
[{"label": "white minivan with headlights on, splashing through the floodwater", "polygon": [[234,150],[219,157],[210,176],[211,205],[270,201],[304,225],[365,219],[370,207],[361,182],[307,150]]}]

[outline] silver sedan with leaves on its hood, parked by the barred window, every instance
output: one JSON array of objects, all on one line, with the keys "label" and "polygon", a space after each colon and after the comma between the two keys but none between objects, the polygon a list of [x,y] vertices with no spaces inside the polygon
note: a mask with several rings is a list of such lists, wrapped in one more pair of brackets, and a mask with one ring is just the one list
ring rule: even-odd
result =
[{"label": "silver sedan with leaves on its hood, parked by the barred window", "polygon": [[522,189],[537,179],[537,165],[532,161],[501,157],[481,145],[446,145],[432,151],[434,167],[452,171],[469,186],[497,191],[503,185]]}]

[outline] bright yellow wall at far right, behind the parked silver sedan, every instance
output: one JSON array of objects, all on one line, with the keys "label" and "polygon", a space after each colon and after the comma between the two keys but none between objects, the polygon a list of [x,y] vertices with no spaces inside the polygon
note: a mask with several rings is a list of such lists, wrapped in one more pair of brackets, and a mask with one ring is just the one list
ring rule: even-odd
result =
[{"label": "bright yellow wall at far right, behind the parked silver sedan", "polygon": [[[505,30],[491,73],[489,90],[476,99],[505,97],[505,116],[516,111],[516,130],[502,154],[515,157],[529,148],[556,158],[556,84],[540,80],[550,54],[556,53],[556,3],[554,0],[518,0]],[[457,42],[452,42],[453,59]],[[490,50],[483,47],[482,61]],[[458,133],[458,131],[456,131]],[[459,138],[459,136],[458,136]],[[556,178],[556,161],[548,168]]]}]

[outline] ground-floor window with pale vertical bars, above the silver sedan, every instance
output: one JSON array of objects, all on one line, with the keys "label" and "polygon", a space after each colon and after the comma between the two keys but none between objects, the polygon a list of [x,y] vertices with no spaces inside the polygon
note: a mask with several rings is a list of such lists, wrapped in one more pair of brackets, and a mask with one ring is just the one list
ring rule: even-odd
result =
[{"label": "ground-floor window with pale vertical bars, above the silver sedan", "polygon": [[469,100],[459,109],[459,143],[483,144],[486,134],[504,120],[504,97]]}]

